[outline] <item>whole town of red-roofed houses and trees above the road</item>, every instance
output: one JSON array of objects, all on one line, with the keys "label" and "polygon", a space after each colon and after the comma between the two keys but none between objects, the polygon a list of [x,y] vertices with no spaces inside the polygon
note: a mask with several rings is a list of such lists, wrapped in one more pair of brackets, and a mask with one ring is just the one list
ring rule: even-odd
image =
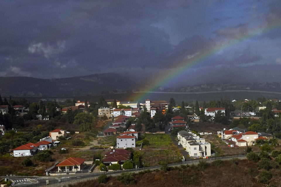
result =
[{"label": "whole town of red-roofed houses and trees above the road", "polygon": [[[62,176],[72,180],[71,174],[270,153],[281,138],[277,98],[0,102],[1,175],[37,176],[13,181],[19,186],[29,183],[23,180],[55,183]],[[61,179],[52,177],[58,174]]]}]

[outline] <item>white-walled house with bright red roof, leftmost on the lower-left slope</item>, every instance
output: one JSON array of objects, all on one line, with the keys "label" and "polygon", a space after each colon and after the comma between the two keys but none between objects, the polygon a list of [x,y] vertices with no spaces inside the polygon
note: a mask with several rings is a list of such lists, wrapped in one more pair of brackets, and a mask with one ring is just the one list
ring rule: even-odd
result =
[{"label": "white-walled house with bright red roof, leftmost on the lower-left slope", "polygon": [[38,143],[27,143],[25,145],[14,148],[14,157],[33,156],[39,150],[39,146],[40,144]]}]

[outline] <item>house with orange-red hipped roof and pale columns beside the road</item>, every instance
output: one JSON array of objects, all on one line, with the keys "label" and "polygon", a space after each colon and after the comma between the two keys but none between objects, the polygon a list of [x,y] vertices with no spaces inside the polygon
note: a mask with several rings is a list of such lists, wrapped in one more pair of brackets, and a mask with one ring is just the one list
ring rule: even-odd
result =
[{"label": "house with orange-red hipped roof and pale columns beside the road", "polygon": [[84,158],[70,157],[56,166],[58,167],[58,172],[76,172],[81,171],[84,168]]}]

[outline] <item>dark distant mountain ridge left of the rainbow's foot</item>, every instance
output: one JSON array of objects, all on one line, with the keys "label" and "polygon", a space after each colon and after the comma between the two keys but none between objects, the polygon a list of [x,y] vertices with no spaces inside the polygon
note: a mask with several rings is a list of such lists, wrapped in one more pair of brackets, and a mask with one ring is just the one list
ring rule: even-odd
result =
[{"label": "dark distant mountain ridge left of the rainbow's foot", "polygon": [[2,96],[79,96],[106,91],[127,91],[138,83],[117,73],[102,73],[60,79],[0,77]]}]

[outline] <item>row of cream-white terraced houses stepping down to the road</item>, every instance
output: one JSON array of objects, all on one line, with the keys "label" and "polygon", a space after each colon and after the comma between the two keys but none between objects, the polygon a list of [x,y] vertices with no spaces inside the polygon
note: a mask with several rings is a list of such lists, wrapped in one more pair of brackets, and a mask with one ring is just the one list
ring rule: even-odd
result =
[{"label": "row of cream-white terraced houses stepping down to the road", "polygon": [[211,156],[211,144],[205,142],[205,138],[200,138],[196,134],[187,131],[178,132],[179,143],[185,148],[189,157],[208,158]]}]

